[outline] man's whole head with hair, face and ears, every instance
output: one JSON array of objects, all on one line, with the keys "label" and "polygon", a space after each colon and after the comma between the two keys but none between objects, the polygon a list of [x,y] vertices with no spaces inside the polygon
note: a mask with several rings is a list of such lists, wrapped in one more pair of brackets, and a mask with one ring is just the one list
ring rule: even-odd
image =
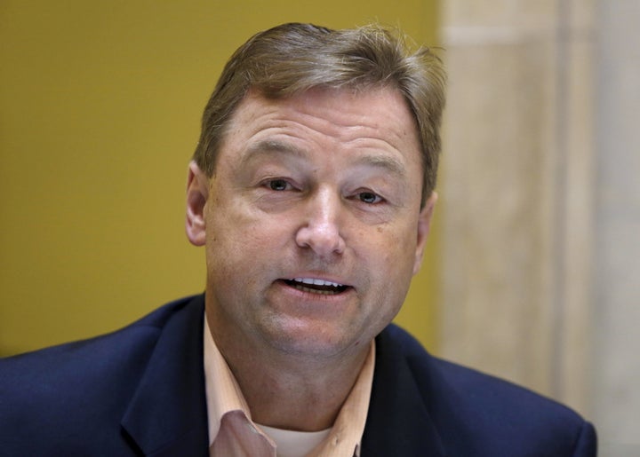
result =
[{"label": "man's whole head with hair, face and ears", "polygon": [[236,52],[187,190],[223,352],[362,355],[394,318],[436,201],[442,79],[380,28],[285,25]]}]

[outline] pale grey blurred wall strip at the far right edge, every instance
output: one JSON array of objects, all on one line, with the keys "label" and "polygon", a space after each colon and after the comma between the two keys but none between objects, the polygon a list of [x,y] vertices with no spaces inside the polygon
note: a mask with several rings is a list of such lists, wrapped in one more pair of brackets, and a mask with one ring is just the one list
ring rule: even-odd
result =
[{"label": "pale grey blurred wall strip at the far right edge", "polygon": [[640,2],[598,4],[595,360],[601,455],[640,455]]}]

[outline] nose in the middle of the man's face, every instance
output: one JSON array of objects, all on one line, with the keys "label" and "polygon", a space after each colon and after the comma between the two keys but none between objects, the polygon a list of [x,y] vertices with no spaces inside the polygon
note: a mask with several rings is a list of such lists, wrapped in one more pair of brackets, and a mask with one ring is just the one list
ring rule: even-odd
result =
[{"label": "nose in the middle of the man's face", "polygon": [[295,240],[300,248],[310,248],[317,256],[329,258],[344,252],[346,243],[340,233],[340,197],[322,190],[309,199],[303,224]]}]

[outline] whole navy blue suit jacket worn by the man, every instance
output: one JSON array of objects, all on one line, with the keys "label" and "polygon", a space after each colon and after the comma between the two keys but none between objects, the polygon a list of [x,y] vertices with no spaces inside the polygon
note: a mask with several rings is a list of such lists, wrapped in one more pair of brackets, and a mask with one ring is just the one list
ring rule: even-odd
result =
[{"label": "whole navy blue suit jacket worn by the man", "polygon": [[[0,360],[2,456],[207,456],[204,297],[113,334]],[[376,340],[367,456],[590,456],[596,433],[529,390]]]}]

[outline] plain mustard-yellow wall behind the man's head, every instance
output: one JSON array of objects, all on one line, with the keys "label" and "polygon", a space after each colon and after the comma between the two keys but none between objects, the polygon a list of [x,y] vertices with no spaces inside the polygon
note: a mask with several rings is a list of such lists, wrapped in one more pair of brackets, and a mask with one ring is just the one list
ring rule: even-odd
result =
[{"label": "plain mustard-yellow wall behind the man's head", "polygon": [[[204,289],[186,167],[228,55],[285,21],[436,41],[436,0],[0,4],[0,355],[121,327]],[[433,347],[437,240],[399,320]]]}]

